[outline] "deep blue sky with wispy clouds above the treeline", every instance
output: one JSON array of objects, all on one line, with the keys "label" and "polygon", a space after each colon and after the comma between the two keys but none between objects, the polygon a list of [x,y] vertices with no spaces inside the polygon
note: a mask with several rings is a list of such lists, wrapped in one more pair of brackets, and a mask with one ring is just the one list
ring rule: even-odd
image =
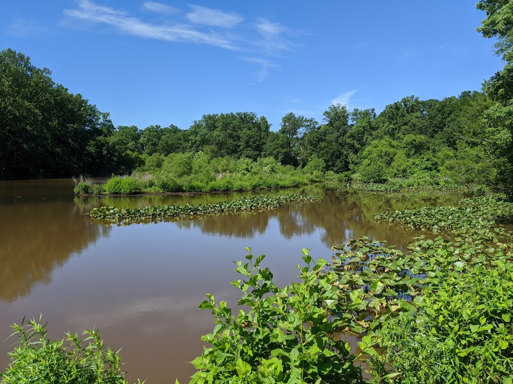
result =
[{"label": "deep blue sky with wispy clouds above the treeline", "polygon": [[480,90],[502,68],[475,1],[0,0],[0,49],[30,56],[115,125],[175,124]]}]

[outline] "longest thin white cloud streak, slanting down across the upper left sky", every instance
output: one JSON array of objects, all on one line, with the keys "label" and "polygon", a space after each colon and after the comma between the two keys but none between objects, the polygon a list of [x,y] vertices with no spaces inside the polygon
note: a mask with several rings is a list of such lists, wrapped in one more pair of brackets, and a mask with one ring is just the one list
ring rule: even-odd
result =
[{"label": "longest thin white cloud streak, slanting down across the upper left sky", "polygon": [[65,9],[64,14],[93,23],[107,24],[134,36],[176,42],[195,42],[229,50],[239,49],[230,38],[214,31],[202,32],[181,24],[168,26],[145,23],[139,18],[130,17],[125,11],[99,6],[89,0],[78,0],[77,5],[76,9]]}]

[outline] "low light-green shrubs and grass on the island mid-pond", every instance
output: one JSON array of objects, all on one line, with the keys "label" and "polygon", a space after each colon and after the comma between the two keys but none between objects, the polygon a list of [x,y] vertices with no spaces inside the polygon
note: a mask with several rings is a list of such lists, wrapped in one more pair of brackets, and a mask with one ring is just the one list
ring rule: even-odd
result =
[{"label": "low light-green shrubs and grass on the island mid-pond", "polygon": [[272,157],[253,161],[230,157],[210,159],[202,152],[172,153],[162,161],[161,167],[152,163],[151,168],[141,167],[131,176],[112,177],[104,187],[93,182],[82,183],[75,188],[75,194],[247,191],[305,185],[324,177],[322,161],[295,169],[281,165]]}]

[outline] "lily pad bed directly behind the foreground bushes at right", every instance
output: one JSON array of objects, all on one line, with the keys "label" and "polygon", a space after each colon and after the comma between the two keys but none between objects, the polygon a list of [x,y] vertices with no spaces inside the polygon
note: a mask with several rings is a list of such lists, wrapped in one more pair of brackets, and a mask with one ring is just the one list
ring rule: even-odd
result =
[{"label": "lily pad bed directly behind the foreground bushes at right", "polygon": [[378,329],[400,312],[415,312],[423,290],[438,287],[442,276],[513,261],[513,243],[498,239],[414,240],[404,252],[366,237],[333,247],[336,253],[318,275],[336,276],[338,329],[353,334]]}]

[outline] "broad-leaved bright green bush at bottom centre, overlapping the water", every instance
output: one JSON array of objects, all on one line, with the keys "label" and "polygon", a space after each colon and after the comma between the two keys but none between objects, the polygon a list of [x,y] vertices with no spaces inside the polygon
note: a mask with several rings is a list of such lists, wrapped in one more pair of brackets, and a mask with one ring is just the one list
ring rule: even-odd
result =
[{"label": "broad-leaved bright green bush at bottom centre, overlapping the water", "polygon": [[337,288],[333,275],[314,272],[326,262],[313,264],[303,249],[307,266],[298,266],[301,282],[281,289],[270,270],[260,267],[265,256],[246,250],[248,262],[236,263],[235,269],[242,280],[232,285],[242,293],[238,305],[250,310],[232,316],[225,301],[216,304],[207,294],[200,309],[212,311],[216,326],[202,337],[211,347],[192,361],[198,372],[191,384],[360,382],[348,344],[331,336],[336,332],[332,314],[340,309]]}]

